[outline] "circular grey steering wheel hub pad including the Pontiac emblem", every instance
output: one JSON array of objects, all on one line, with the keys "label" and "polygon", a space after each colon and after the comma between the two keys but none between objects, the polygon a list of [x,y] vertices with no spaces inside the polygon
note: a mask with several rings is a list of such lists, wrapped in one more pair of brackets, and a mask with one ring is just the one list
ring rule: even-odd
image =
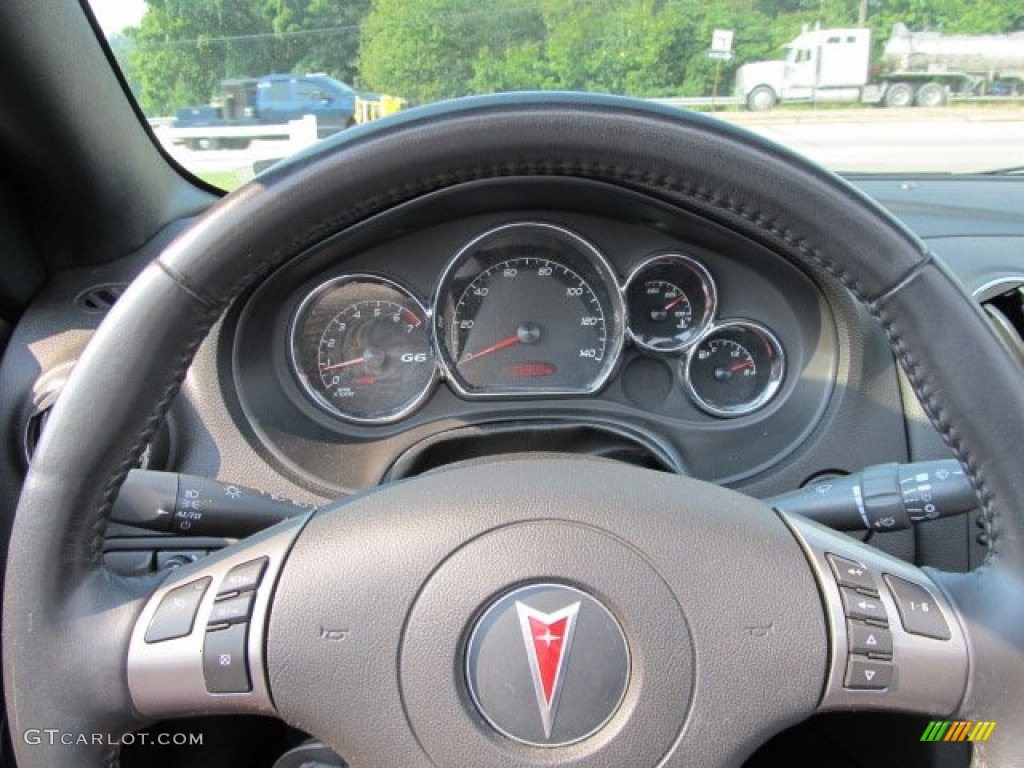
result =
[{"label": "circular grey steering wheel hub pad including the Pontiac emblem", "polygon": [[694,677],[689,628],[657,569],[613,534],[568,521],[524,520],[453,552],[401,649],[406,712],[437,765],[507,765],[510,753],[655,765]]}]

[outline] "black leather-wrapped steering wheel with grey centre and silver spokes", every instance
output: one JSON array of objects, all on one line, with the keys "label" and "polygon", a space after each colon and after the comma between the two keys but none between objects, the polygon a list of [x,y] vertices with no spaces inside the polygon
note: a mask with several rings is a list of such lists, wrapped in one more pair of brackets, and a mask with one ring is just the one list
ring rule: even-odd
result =
[{"label": "black leather-wrapped steering wheel with grey centre and silver spokes", "polygon": [[[627,187],[827,271],[885,330],[979,492],[985,565],[922,570],[728,489],[566,458],[376,488],[163,583],[103,567],[119,484],[236,297],[370,216],[521,176]],[[276,715],[353,768],[725,766],[843,709],[997,721],[977,757],[1021,764],[1021,370],[956,282],[778,146],[577,94],[352,129],[215,205],[131,285],[69,380],[5,581],[18,765],[115,765],[112,743],[147,721],[233,712]],[[30,743],[30,729],[60,733]]]}]

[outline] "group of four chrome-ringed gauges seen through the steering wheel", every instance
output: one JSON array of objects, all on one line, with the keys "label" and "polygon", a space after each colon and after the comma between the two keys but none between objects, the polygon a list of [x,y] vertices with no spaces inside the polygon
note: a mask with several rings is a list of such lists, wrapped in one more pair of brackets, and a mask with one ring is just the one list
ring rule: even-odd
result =
[{"label": "group of four chrome-ringed gauges seen through the steering wheel", "polygon": [[291,319],[290,361],[324,411],[386,424],[440,381],[467,399],[594,394],[630,343],[672,358],[698,408],[732,418],[772,399],[785,354],[767,327],[719,318],[717,295],[685,253],[651,254],[621,280],[577,232],[514,222],[459,249],[429,302],[372,273],[315,287]]}]

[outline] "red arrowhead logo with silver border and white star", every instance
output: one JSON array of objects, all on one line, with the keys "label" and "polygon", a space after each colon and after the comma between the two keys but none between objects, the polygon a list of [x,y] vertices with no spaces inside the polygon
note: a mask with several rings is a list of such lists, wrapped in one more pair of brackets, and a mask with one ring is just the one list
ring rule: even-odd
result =
[{"label": "red arrowhead logo with silver border and white star", "polygon": [[541,709],[544,735],[551,738],[580,603],[574,602],[554,613],[542,613],[518,601],[515,608],[519,614],[523,643],[526,645],[526,659],[534,678],[537,703]]}]

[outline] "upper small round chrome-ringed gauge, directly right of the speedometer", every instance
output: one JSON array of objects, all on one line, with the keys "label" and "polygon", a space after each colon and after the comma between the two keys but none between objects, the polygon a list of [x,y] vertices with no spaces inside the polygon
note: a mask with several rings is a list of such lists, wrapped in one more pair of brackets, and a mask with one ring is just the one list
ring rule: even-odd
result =
[{"label": "upper small round chrome-ringed gauge, directly right of the speedometer", "polygon": [[680,352],[708,328],[715,314],[715,282],[689,256],[654,256],[626,283],[629,334],[651,352]]}]

